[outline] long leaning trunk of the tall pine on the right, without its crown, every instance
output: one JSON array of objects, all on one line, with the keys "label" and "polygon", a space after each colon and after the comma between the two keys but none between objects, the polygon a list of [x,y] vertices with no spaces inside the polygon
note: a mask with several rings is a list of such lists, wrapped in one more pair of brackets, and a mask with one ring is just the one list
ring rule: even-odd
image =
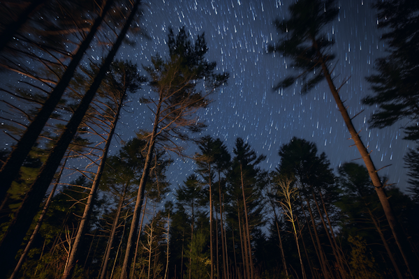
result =
[{"label": "long leaning trunk of the tall pine on the right, without its crown", "polygon": [[335,84],[333,83],[328,66],[326,65],[327,59],[325,59],[323,54],[321,54],[316,40],[314,39],[312,40],[312,42],[313,42],[314,48],[316,49],[319,62],[321,63],[323,75],[325,75],[325,78],[328,81],[330,91],[332,92],[333,98],[335,98],[335,102],[337,104],[339,112],[341,112],[341,115],[344,118],[346,128],[348,128],[348,131],[351,134],[351,139],[355,143],[355,146],[360,152],[362,160],[364,160],[365,166],[367,167],[369,177],[372,180],[372,184],[374,185],[374,188],[378,195],[378,199],[380,199],[381,206],[383,206],[385,217],[388,220],[388,224],[390,225],[392,235],[394,236],[395,241],[397,243],[397,247],[399,248],[402,254],[404,263],[406,264],[406,267],[409,273],[411,274],[411,277],[419,278],[418,258],[416,257],[416,255],[414,255],[413,251],[411,250],[409,241],[407,240],[406,235],[403,232],[402,226],[399,224],[399,221],[397,220],[397,217],[395,216],[395,213],[392,210],[390,202],[388,201],[388,197],[385,194],[384,186],[381,184],[380,178],[378,177],[378,173],[377,173],[378,171],[376,167],[374,166],[374,163],[372,162],[372,159],[369,156],[369,153],[367,149],[365,148],[364,143],[362,142],[360,136],[355,130],[355,127],[353,126],[353,123],[352,123],[352,119],[349,116],[348,111],[346,110],[346,107],[344,107],[344,103],[341,101],[341,98],[339,96],[339,91],[337,90]]}]

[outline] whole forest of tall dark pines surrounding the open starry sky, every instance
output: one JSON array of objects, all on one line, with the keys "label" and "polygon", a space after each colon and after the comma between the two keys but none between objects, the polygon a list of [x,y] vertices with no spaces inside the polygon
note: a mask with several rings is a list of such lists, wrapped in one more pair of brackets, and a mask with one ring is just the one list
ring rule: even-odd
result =
[{"label": "whole forest of tall dark pines surrounding the open starry sky", "polygon": [[[417,144],[419,2],[371,8],[387,56],[365,77],[369,123],[404,121]],[[374,166],[332,75],[339,57],[324,29],[335,1],[292,1],[287,18],[271,19],[266,52],[292,61],[272,91],[327,83],[360,159],[339,167],[299,137],[274,147],[267,170],[244,138],[229,150],[206,135],[198,112],[233,73],[206,58],[205,33],[182,26],[168,27],[167,55],[118,59],[153,39],[144,13],[140,0],[0,3],[0,75],[12,77],[0,82],[0,118],[13,141],[0,151],[0,279],[419,278],[419,145],[404,156],[405,193]],[[152,126],[122,140],[128,98]],[[177,157],[196,166],[179,185],[168,172]]]}]

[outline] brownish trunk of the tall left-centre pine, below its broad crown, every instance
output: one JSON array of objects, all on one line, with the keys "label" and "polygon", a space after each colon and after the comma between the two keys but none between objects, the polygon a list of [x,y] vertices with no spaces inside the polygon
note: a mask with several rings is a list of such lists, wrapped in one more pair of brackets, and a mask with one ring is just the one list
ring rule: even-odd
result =
[{"label": "brownish trunk of the tall left-centre pine, below its broad crown", "polygon": [[156,133],[157,128],[159,126],[159,117],[160,117],[160,110],[161,110],[161,103],[163,102],[163,97],[160,96],[159,103],[157,105],[156,117],[154,119],[154,126],[152,130],[152,135],[149,141],[149,148],[147,150],[147,156],[145,158],[144,169],[142,171],[140,185],[138,186],[138,194],[137,199],[135,201],[134,213],[133,213],[133,220],[131,222],[131,228],[128,234],[128,241],[126,243],[126,252],[124,257],[124,264],[122,265],[121,271],[121,279],[128,278],[129,269],[131,267],[131,260],[133,258],[133,243],[134,243],[134,236],[138,229],[138,220],[140,218],[140,209],[142,206],[142,200],[144,199],[145,193],[145,184],[147,183],[147,179],[150,172],[150,165],[152,163],[152,156],[154,152],[154,144],[156,143]]}]

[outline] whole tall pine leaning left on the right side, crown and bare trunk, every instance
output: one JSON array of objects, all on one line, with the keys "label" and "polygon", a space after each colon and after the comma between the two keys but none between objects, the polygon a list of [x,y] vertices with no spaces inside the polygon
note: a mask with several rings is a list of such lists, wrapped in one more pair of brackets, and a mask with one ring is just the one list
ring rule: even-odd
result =
[{"label": "whole tall pine leaning left on the right side, crown and bare trunk", "polygon": [[[327,36],[322,33],[323,27],[332,22],[337,16],[338,10],[333,7],[333,0],[328,1],[297,1],[289,8],[291,17],[288,20],[277,20],[277,30],[283,36],[279,45],[270,46],[271,52],[281,52],[284,57],[293,59],[291,68],[302,70],[300,75],[291,75],[277,84],[276,89],[291,86],[296,80],[303,80],[302,92],[308,92],[318,82],[326,80],[330,92],[337,104],[341,116],[344,119],[346,128],[351,134],[351,139],[357,147],[362,160],[368,169],[369,176],[375,186],[376,193],[383,206],[385,216],[392,234],[396,239],[397,246],[404,257],[404,262],[413,277],[419,277],[418,259],[414,256],[409,241],[404,234],[402,227],[392,210],[392,206],[385,195],[384,186],[378,177],[377,169],[372,162],[370,153],[362,142],[359,133],[353,126],[352,119],[341,101],[339,89],[335,86],[330,74],[330,65],[335,55],[329,52],[330,47],[335,43],[333,40],[326,40]],[[318,69],[313,75],[314,69]],[[342,86],[344,83],[342,84]]]}]

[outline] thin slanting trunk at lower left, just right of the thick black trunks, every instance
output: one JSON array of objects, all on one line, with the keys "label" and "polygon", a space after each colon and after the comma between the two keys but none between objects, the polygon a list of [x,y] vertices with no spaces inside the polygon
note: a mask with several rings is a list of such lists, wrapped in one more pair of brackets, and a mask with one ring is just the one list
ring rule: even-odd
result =
[{"label": "thin slanting trunk at lower left, just right of the thick black trunks", "polygon": [[43,223],[43,220],[45,218],[45,213],[47,213],[48,208],[50,207],[50,204],[52,202],[52,197],[54,197],[55,190],[57,189],[57,185],[59,183],[59,180],[61,179],[61,174],[64,172],[64,167],[66,167],[68,156],[66,157],[66,160],[63,163],[63,166],[61,167],[61,170],[59,171],[59,174],[57,176],[57,181],[54,183],[54,187],[52,187],[50,196],[48,197],[47,201],[45,202],[45,205],[43,207],[43,210],[41,212],[41,216],[39,216],[38,223],[36,223],[36,227],[34,229],[34,232],[31,235],[31,239],[29,239],[29,242],[27,243],[26,248],[24,248],[24,251],[22,252],[22,255],[20,256],[19,262],[17,262],[17,265],[15,267],[15,270],[13,271],[12,275],[9,279],[15,279],[17,274],[20,271],[20,268],[22,267],[22,264],[24,262],[24,259],[26,259],[29,250],[31,249],[32,243],[34,243],[35,237],[38,235],[39,229],[41,229],[41,225]]}]

